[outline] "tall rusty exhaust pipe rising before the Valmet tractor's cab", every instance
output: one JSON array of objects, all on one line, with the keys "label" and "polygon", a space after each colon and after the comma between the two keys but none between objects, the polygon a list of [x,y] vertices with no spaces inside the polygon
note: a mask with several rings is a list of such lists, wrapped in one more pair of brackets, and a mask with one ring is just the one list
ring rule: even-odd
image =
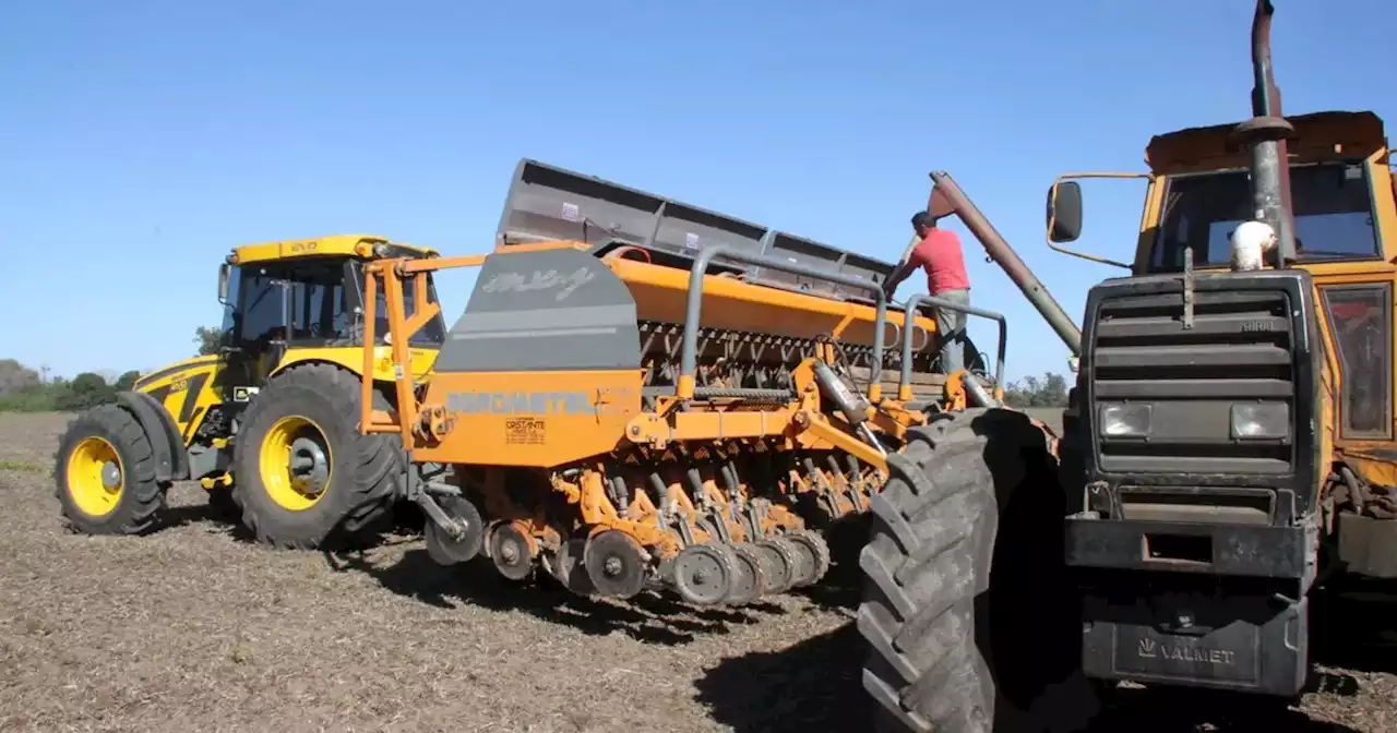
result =
[{"label": "tall rusty exhaust pipe rising before the Valmet tractor's cab", "polygon": [[1248,145],[1252,166],[1252,205],[1257,221],[1275,232],[1277,267],[1295,262],[1295,226],[1291,218],[1291,166],[1285,147],[1295,135],[1281,113],[1281,91],[1271,68],[1270,0],[1256,1],[1252,18],[1252,119],[1235,134]]}]

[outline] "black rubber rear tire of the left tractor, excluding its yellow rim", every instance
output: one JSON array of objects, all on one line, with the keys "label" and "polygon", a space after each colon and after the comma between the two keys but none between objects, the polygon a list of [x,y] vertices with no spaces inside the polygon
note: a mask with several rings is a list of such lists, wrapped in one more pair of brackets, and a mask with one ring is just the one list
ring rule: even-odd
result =
[{"label": "black rubber rear tire of the left tractor, excluding its yellow rim", "polygon": [[[291,367],[272,377],[247,409],[233,441],[232,500],[258,542],[316,549],[363,539],[393,504],[401,457],[381,434],[359,434],[359,377],[330,364]],[[388,409],[374,392],[374,408]],[[328,444],[330,479],[307,508],[272,498],[261,473],[261,448],[284,417],[310,420]]]}]

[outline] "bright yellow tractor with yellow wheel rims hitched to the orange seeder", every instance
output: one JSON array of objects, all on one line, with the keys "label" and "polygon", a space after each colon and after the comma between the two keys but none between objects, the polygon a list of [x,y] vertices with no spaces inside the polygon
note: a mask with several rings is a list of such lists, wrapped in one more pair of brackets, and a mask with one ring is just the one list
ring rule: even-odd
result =
[{"label": "bright yellow tractor with yellow wheel rims hitched to the orange seeder", "polygon": [[[362,378],[395,376],[387,342],[363,341],[366,325],[388,331],[363,323],[366,311],[384,313],[365,304],[363,269],[436,256],[356,235],[235,247],[218,272],[218,353],[144,374],[60,438],[54,480],[68,524],[140,533],[158,522],[172,482],[198,480],[270,545],[316,547],[369,528],[391,505],[401,459],[390,441],[359,434]],[[420,328],[401,369],[416,378],[446,327],[429,281],[405,302]],[[391,409],[394,398],[372,399]],[[272,417],[270,405],[295,405],[299,416]]]}]

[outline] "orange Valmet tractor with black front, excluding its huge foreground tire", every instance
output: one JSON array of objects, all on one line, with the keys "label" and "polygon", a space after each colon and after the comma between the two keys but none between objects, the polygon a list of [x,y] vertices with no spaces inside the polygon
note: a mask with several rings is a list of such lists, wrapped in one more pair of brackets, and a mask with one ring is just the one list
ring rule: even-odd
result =
[{"label": "orange Valmet tractor with black front, excluding its huge foreground tire", "polygon": [[[1397,578],[1397,179],[1376,114],[1282,116],[1271,14],[1253,117],[1150,141],[1129,274],[1087,296],[1062,593],[1095,680],[1291,699],[1316,591]],[[1092,176],[1123,175],[1052,186],[1055,249]]]}]

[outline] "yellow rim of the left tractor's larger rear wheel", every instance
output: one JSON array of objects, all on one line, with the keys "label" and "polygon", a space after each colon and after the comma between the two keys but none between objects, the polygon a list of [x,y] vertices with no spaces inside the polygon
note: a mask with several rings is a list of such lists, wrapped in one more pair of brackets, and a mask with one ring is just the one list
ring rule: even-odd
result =
[{"label": "yellow rim of the left tractor's larger rear wheel", "polygon": [[284,510],[309,510],[330,487],[330,441],[313,420],[296,415],[277,420],[258,458],[267,496]]}]

